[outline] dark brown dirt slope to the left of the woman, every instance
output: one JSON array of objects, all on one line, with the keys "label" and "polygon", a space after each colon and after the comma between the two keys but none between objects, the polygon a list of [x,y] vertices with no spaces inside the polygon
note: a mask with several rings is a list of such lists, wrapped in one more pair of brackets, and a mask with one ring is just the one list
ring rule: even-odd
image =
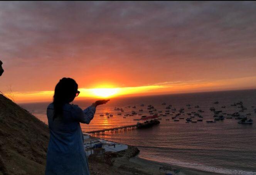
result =
[{"label": "dark brown dirt slope to the left of the woman", "polygon": [[0,94],[0,175],[44,174],[48,126]]}]

